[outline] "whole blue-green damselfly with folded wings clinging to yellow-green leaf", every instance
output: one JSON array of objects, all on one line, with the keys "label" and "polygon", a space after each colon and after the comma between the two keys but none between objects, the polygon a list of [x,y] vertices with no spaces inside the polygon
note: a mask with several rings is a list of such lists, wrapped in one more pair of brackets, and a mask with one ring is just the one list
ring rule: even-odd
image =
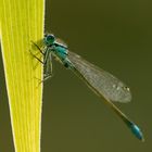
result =
[{"label": "whole blue-green damselfly with folded wings clinging to yellow-green leaf", "polygon": [[[34,42],[33,42],[34,43]],[[78,54],[68,51],[66,45],[59,42],[52,34],[45,35],[41,50],[43,61],[34,55],[45,65],[45,79],[52,75],[52,56],[62,63],[67,69],[74,72],[99,97],[103,97],[105,103],[123,119],[131,132],[141,141],[144,141],[140,128],[130,121],[113,102],[126,103],[131,100],[129,88],[118,78],[89,63]]]}]

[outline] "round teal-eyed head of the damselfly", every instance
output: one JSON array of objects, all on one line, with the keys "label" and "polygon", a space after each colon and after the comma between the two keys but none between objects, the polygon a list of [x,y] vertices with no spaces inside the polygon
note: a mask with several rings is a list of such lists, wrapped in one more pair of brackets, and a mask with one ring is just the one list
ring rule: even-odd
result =
[{"label": "round teal-eyed head of the damselfly", "polygon": [[55,41],[55,37],[54,37],[52,34],[47,34],[47,35],[45,35],[43,43],[45,43],[46,46],[49,47],[49,46],[53,45],[54,41]]}]

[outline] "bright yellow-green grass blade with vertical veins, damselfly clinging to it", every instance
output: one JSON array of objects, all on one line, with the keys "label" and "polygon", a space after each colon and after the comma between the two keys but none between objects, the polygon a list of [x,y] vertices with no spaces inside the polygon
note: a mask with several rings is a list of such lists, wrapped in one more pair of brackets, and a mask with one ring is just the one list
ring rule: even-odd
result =
[{"label": "bright yellow-green grass blade with vertical veins, damselfly clinging to it", "polygon": [[[45,0],[0,0],[0,37],[16,152],[40,151],[42,65],[34,71],[30,40],[43,36]],[[31,50],[34,51],[34,50]]]}]

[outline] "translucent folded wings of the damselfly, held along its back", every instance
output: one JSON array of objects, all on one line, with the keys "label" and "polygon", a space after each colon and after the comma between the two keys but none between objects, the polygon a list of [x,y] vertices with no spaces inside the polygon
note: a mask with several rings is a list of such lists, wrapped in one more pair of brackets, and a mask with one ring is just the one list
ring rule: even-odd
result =
[{"label": "translucent folded wings of the damselfly, held along its back", "polygon": [[68,52],[68,60],[73,64],[73,71],[86,81],[98,96],[109,101],[129,102],[131,93],[129,88],[112,74],[89,63],[74,52]]}]

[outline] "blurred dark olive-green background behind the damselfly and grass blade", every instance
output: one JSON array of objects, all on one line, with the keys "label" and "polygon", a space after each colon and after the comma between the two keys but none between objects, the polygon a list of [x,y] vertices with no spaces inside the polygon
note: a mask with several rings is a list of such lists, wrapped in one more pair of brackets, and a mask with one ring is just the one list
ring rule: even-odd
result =
[{"label": "blurred dark olive-green background behind the damselfly and grass blade", "polygon": [[[142,128],[145,142],[54,62],[45,83],[41,152],[151,152],[152,1],[48,0],[46,8],[46,31],[131,88],[132,102],[116,105]],[[1,56],[0,128],[0,151],[14,152]]]}]

